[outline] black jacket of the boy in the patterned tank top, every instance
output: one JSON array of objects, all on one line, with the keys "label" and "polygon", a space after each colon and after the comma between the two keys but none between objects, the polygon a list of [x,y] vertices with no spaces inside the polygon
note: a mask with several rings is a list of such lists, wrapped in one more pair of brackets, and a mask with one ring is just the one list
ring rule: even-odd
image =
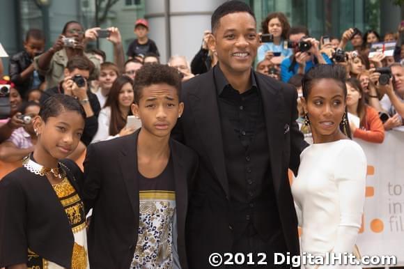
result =
[{"label": "black jacket of the boy in the patterned tank top", "polygon": [[[139,227],[138,135],[139,130],[88,146],[81,188],[86,209],[93,208],[88,230],[91,268],[130,268]],[[196,173],[198,157],[175,140],[170,139],[169,144],[176,185],[178,256],[181,268],[188,268],[185,253],[187,185]]]}]

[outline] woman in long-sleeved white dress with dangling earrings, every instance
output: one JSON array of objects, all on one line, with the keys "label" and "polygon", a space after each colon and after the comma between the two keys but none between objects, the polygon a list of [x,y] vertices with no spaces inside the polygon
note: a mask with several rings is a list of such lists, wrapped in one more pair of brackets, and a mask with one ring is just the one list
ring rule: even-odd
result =
[{"label": "woman in long-sleeved white dress with dangling earrings", "polygon": [[313,133],[313,144],[300,155],[292,185],[302,226],[302,253],[354,253],[364,208],[366,157],[348,137],[345,70],[341,66],[316,66],[304,75],[302,86],[305,124]]}]

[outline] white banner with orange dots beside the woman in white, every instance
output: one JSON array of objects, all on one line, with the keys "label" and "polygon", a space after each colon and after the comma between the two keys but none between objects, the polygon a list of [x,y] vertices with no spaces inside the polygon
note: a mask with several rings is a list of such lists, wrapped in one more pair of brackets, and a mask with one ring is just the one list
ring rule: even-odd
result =
[{"label": "white banner with orange dots beside the woman in white", "polygon": [[382,144],[355,141],[368,160],[359,251],[362,256],[394,255],[397,266],[404,266],[404,132],[385,132]]}]

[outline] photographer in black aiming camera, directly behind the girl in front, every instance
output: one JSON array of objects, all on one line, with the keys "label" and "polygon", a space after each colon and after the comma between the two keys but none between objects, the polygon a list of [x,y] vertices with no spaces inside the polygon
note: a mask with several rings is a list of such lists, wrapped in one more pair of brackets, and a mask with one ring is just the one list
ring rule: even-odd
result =
[{"label": "photographer in black aiming camera, directly behind the girl in front", "polygon": [[61,93],[71,95],[79,100],[86,112],[86,125],[81,136],[81,142],[86,146],[90,144],[97,132],[98,114],[101,110],[97,96],[88,89],[87,80],[93,68],[93,63],[86,57],[72,57],[64,70],[64,79],[58,86],[47,89],[40,99],[40,103],[43,104],[50,96]]}]

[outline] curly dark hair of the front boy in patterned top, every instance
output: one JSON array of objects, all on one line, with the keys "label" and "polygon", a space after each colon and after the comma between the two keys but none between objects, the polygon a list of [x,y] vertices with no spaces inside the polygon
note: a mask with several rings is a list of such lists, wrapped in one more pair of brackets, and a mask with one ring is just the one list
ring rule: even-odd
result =
[{"label": "curly dark hair of the front boy in patterned top", "polygon": [[136,72],[136,83],[134,84],[134,102],[139,104],[141,93],[144,88],[153,84],[169,84],[176,88],[178,98],[181,95],[181,77],[176,70],[170,66],[155,63],[146,64]]}]

